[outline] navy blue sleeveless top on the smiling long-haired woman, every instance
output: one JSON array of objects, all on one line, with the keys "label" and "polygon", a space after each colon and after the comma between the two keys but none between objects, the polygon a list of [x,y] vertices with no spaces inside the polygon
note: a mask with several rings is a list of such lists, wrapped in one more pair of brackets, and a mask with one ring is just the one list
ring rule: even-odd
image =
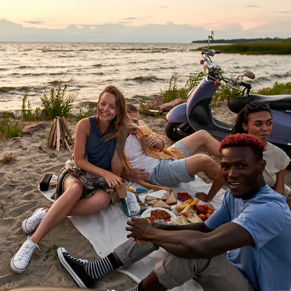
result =
[{"label": "navy blue sleeveless top on the smiling long-haired woman", "polygon": [[86,143],[86,152],[88,160],[93,165],[107,171],[111,171],[111,160],[113,158],[116,138],[103,142],[109,128],[102,133],[95,125],[96,116],[88,117],[90,120],[90,135]]}]

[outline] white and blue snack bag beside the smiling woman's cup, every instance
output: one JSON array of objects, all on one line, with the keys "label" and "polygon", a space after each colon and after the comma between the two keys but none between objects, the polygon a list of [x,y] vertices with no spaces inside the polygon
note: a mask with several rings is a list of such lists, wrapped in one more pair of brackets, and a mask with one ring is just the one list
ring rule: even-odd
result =
[{"label": "white and blue snack bag beside the smiling woman's cup", "polygon": [[139,215],[147,210],[146,205],[139,199],[138,195],[133,192],[127,191],[127,196],[121,198],[121,203],[127,216]]}]

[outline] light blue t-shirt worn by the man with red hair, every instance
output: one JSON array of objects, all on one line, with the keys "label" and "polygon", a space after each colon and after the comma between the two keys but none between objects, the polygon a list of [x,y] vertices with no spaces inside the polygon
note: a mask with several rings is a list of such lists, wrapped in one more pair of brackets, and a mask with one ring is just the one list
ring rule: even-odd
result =
[{"label": "light blue t-shirt worn by the man with red hair", "polygon": [[257,290],[290,290],[291,211],[286,198],[268,185],[248,200],[233,197],[228,189],[205,225],[214,230],[228,222],[246,229],[254,243],[231,250],[226,259]]}]

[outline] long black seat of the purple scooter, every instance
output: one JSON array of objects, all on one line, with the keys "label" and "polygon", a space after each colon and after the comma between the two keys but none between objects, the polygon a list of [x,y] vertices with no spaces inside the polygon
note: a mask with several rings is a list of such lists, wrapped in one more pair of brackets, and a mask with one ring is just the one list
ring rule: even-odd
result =
[{"label": "long black seat of the purple scooter", "polygon": [[251,103],[268,103],[271,109],[291,110],[291,95],[258,95],[249,94],[244,97],[234,97],[227,99],[227,106],[233,113],[239,113],[242,108]]}]

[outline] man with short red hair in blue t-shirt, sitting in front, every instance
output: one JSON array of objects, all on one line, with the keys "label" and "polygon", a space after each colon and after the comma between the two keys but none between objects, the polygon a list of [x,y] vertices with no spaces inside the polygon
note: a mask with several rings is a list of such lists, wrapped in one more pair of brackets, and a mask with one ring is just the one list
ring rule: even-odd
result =
[{"label": "man with short red hair in blue t-shirt, sitting in front", "polygon": [[[253,135],[230,135],[222,141],[221,173],[229,189],[206,222],[148,225],[131,218],[130,240],[109,256],[89,263],[59,248],[63,265],[76,281],[87,284],[103,275],[102,266],[126,268],[162,247],[169,255],[127,291],[170,290],[191,278],[205,291],[290,290],[291,212],[285,197],[264,181],[263,151]],[[133,238],[150,243],[140,246]]]}]

